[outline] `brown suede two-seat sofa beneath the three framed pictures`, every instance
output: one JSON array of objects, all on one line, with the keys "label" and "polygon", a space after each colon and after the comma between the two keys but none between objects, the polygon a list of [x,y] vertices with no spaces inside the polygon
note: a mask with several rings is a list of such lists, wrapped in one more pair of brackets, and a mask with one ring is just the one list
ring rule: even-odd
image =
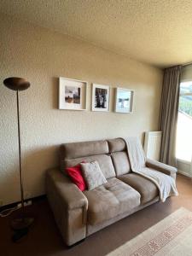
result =
[{"label": "brown suede two-seat sofa beneath the three framed pictures", "polygon": [[[61,170],[49,170],[46,189],[56,224],[68,246],[97,230],[159,201],[157,187],[131,172],[125,141],[121,138],[66,143],[60,148]],[[67,166],[97,160],[108,183],[81,192],[64,175]],[[176,178],[177,169],[148,160],[147,166]]]}]

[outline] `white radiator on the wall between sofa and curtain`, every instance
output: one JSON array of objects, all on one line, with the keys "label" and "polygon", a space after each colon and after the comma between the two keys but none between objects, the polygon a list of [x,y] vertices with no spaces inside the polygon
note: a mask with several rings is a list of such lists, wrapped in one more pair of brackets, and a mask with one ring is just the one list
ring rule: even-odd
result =
[{"label": "white radiator on the wall between sofa and curtain", "polygon": [[145,132],[144,152],[147,158],[160,160],[161,136],[162,131]]}]

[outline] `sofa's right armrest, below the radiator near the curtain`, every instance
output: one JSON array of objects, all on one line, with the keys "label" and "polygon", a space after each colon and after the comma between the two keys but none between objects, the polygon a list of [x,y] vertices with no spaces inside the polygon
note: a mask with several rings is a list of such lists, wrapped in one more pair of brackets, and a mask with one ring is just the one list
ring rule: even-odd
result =
[{"label": "sofa's right armrest, below the radiator near the curtain", "polygon": [[160,163],[159,161],[151,160],[151,159],[147,159],[146,166],[154,170],[157,170],[159,172],[163,172],[169,176],[172,176],[174,179],[176,179],[177,168],[173,166],[168,166],[166,164]]}]

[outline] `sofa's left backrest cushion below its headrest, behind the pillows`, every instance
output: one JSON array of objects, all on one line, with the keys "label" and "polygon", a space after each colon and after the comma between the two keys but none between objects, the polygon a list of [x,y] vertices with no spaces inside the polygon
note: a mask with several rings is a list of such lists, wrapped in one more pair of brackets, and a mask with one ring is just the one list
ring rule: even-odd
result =
[{"label": "sofa's left backrest cushion below its headrest, behind the pillows", "polygon": [[91,162],[96,160],[99,163],[100,169],[102,170],[102,173],[106,178],[115,177],[113,163],[111,157],[108,154],[98,154],[71,160],[62,160],[61,171],[64,172],[65,168],[70,166],[76,166],[83,160],[85,162]]}]

